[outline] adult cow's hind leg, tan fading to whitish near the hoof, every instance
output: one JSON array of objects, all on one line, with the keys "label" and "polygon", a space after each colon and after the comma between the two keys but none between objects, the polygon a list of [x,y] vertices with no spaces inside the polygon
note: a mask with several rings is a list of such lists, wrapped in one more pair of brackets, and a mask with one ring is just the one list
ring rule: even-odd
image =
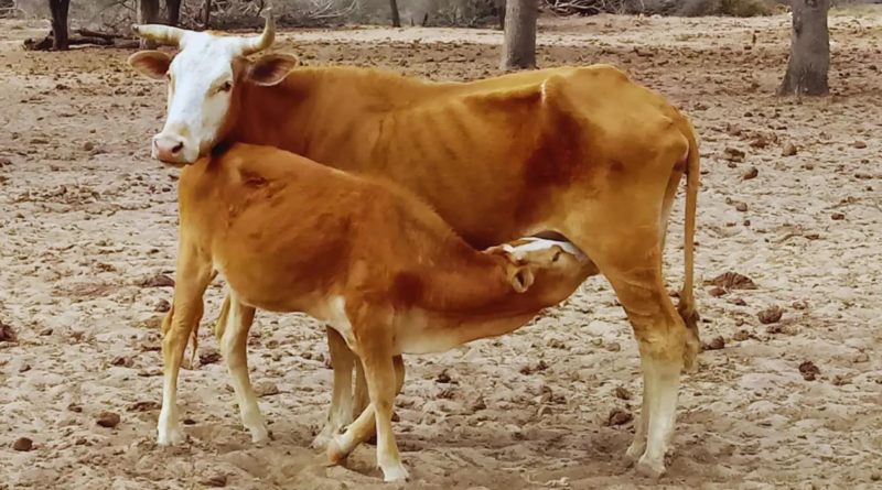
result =
[{"label": "adult cow's hind leg, tan fading to whitish near the hoof", "polygon": [[582,225],[567,229],[564,235],[598,264],[634,328],[644,398],[627,455],[638,458],[638,472],[657,478],[665,472],[687,344],[686,325],[668,297],[662,274],[660,209],[631,208],[625,214],[593,205],[590,215],[581,216]]}]

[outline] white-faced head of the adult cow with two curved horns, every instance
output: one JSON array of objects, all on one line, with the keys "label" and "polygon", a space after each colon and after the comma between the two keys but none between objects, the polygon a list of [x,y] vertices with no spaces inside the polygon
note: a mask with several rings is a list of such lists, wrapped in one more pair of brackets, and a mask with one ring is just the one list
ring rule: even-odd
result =
[{"label": "white-faced head of the adult cow with two curved horns", "polygon": [[154,80],[169,84],[168,115],[162,132],[153,137],[152,155],[171,164],[192,164],[222,141],[236,121],[245,84],[272,86],[298,65],[294,56],[246,56],[272,45],[276,24],[267,17],[263,33],[239,37],[195,32],[168,25],[133,25],[141,37],[178,46],[171,57],[160,51],[141,51],[129,65]]}]

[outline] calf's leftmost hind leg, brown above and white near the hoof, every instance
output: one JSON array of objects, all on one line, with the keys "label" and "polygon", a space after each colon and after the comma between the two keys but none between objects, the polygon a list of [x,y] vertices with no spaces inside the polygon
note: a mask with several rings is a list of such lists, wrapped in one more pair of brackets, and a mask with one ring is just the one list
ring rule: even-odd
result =
[{"label": "calf's leftmost hind leg, brown above and white near the hoof", "polygon": [[202,319],[202,296],[213,277],[211,262],[201,260],[194,248],[181,243],[174,300],[162,323],[162,410],[157,424],[157,442],[160,445],[175,446],[185,440],[178,412],[178,374],[187,339]]}]

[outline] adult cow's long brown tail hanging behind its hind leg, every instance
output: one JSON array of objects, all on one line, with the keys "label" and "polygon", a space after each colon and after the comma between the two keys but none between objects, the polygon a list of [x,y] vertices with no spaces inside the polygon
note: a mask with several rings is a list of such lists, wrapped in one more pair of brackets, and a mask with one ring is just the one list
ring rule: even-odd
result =
[{"label": "adult cow's long brown tail hanging behind its hind leg", "polygon": [[684,255],[685,255],[685,277],[682,290],[680,290],[680,302],[677,312],[686,322],[687,341],[684,352],[684,367],[692,370],[696,356],[701,350],[701,342],[698,334],[698,322],[700,317],[696,311],[695,296],[695,241],[696,241],[696,208],[698,206],[698,186],[700,173],[700,156],[698,152],[698,140],[695,129],[686,135],[689,140],[689,153],[686,157],[686,219],[684,229]]}]

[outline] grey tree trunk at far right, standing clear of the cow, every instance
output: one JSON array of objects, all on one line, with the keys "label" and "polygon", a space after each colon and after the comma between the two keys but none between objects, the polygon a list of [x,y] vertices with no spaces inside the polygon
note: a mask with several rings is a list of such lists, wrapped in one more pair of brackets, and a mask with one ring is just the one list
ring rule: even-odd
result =
[{"label": "grey tree trunk at far right, standing clear of the cow", "polygon": [[825,96],[829,92],[830,35],[827,11],[830,0],[792,0],[793,39],[787,73],[778,88],[782,96]]}]

